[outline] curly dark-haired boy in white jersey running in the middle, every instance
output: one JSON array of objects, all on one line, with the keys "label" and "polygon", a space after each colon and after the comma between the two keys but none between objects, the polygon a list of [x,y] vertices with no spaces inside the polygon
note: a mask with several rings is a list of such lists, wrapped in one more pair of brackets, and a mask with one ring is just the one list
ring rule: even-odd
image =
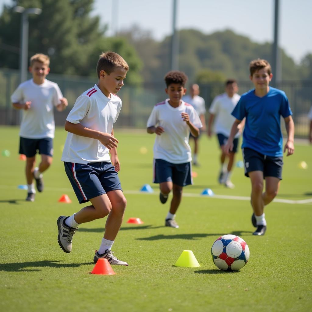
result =
[{"label": "curly dark-haired boy in white jersey running in the middle", "polygon": [[181,71],[170,71],[165,76],[169,99],[156,104],[147,121],[147,132],[157,134],[154,144],[154,183],[159,183],[160,202],[173,192],[165,226],[178,228],[175,213],[182,199],[183,186],[193,184],[192,153],[188,144],[190,132],[198,137],[202,123],[192,105],[182,96],[187,76]]}]

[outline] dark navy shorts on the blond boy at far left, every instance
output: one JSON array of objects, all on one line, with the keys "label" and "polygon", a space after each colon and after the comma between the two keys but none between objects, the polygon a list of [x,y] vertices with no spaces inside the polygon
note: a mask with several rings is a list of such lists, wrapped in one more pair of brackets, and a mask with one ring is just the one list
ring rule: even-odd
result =
[{"label": "dark navy shorts on the blond boy at far left", "polygon": [[26,139],[20,137],[20,154],[26,155],[26,157],[33,157],[37,154],[53,156],[53,139]]}]

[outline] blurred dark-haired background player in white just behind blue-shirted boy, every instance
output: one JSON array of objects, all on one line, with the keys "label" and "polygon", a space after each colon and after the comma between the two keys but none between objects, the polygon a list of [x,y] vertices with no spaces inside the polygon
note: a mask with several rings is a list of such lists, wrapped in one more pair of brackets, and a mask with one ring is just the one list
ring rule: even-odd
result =
[{"label": "blurred dark-haired background player in white just behind blue-shirted boy", "polygon": [[[241,98],[237,94],[238,86],[236,80],[229,79],[225,83],[225,93],[217,95],[209,108],[209,119],[208,119],[208,137],[212,136],[212,124],[214,123],[214,131],[217,134],[217,139],[221,149],[220,156],[220,173],[218,181],[220,184],[224,184],[227,188],[234,188],[234,184],[231,182],[232,168],[237,152],[238,138],[241,134],[243,123],[240,124],[240,131],[235,135],[233,140],[233,150],[227,155],[223,151],[223,146],[227,143],[227,139],[231,132],[231,127],[235,118],[231,115],[234,107]],[[227,164],[225,163],[228,158]]]}]

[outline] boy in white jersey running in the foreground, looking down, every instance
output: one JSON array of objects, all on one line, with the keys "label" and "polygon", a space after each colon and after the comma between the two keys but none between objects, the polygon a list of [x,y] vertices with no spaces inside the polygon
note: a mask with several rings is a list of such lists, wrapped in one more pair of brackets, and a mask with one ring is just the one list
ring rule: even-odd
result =
[{"label": "boy in white jersey running in the foreground, looking down", "polygon": [[98,83],[78,97],[66,119],[65,130],[69,133],[61,160],[78,201],[90,201],[91,205],[57,220],[58,243],[69,253],[72,237],[81,223],[108,216],[93,261],[106,258],[110,264],[124,266],[128,263],[117,259],[111,251],[126,208],[118,178],[118,140],[113,124],[121,109],[121,100],[115,93],[124,85],[128,70],[128,64],[117,53],[102,53],[96,66]]}]

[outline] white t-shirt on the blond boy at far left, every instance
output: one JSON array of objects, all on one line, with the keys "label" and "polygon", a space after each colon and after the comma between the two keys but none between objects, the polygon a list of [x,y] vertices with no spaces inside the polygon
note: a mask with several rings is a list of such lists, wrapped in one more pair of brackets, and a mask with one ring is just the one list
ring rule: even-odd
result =
[{"label": "white t-shirt on the blond boy at far left", "polygon": [[27,139],[54,138],[53,106],[61,104],[62,92],[55,82],[44,80],[37,85],[32,79],[22,82],[11,95],[12,103],[31,101],[30,109],[22,110],[19,135]]}]

